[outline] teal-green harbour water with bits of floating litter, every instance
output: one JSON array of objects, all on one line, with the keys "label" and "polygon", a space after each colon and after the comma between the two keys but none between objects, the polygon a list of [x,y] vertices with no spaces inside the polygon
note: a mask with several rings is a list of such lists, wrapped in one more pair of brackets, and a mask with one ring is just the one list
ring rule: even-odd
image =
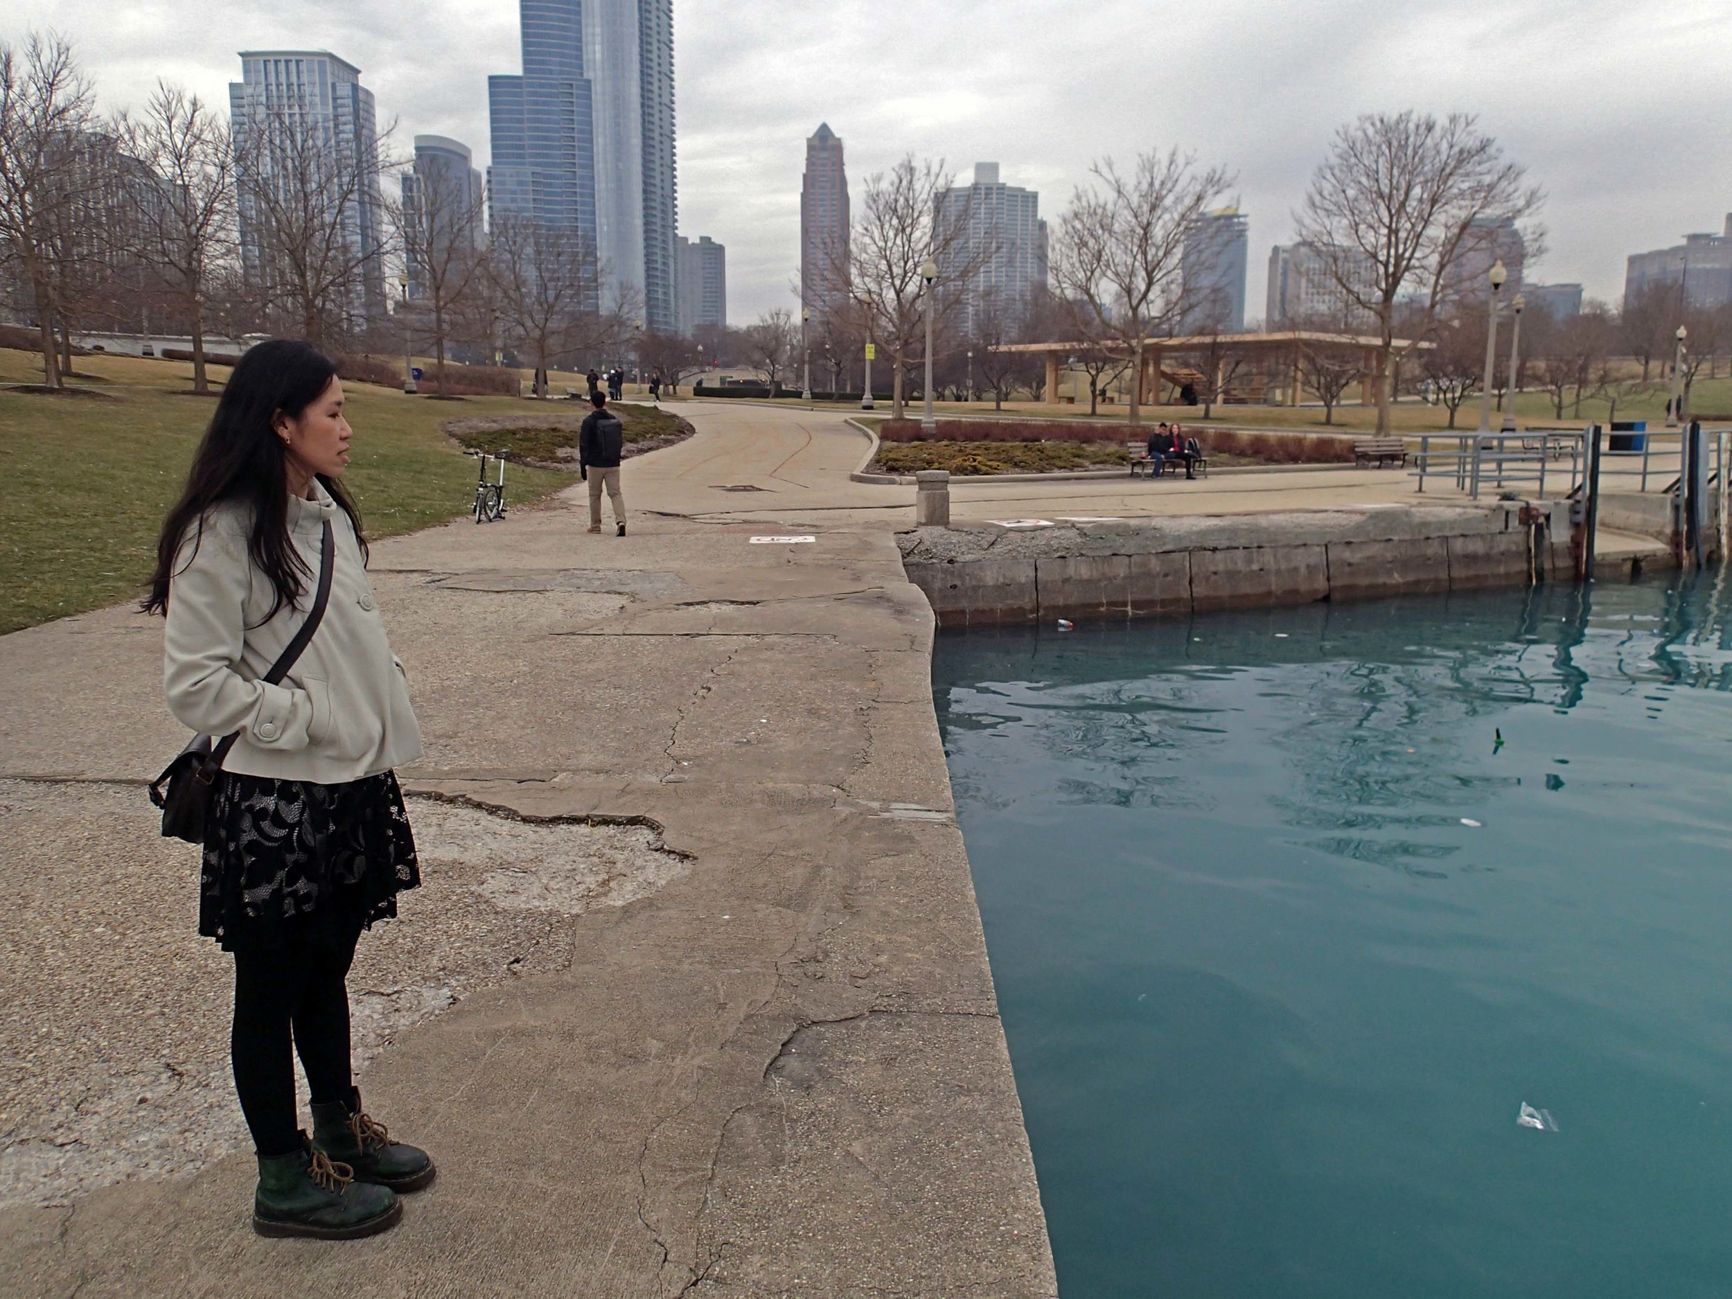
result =
[{"label": "teal-green harbour water with bits of floating litter", "polygon": [[1065,1299],[1732,1296],[1727,608],[939,639]]}]

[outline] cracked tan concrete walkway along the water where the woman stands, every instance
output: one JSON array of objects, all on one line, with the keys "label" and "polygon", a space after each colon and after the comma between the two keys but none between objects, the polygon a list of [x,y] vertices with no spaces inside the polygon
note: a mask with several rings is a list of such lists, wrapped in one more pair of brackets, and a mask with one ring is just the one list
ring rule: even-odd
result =
[{"label": "cracked tan concrete walkway along the water where the woman stands", "polygon": [[[774,478],[797,509],[814,492],[793,480],[845,480],[861,440],[797,412],[691,417],[698,436],[625,466],[648,509],[624,540],[587,537],[572,495],[374,549],[426,734],[400,772],[417,835],[485,826],[424,863],[355,980],[369,1015],[404,1017],[364,1069],[369,1108],[436,1152],[438,1183],[385,1237],[265,1242],[230,1134],[196,1171],[0,1211],[0,1292],[346,1296],[362,1268],[417,1299],[1055,1294],[949,816],[930,610],[876,525],[771,547],[691,520],[727,499],[710,478]],[[123,610],[0,639],[0,774],[62,800],[0,838],[3,878],[64,894],[52,923],[0,934],[66,954],[7,961],[43,1003],[23,1024],[78,1020],[121,1070],[178,1063],[154,1050],[178,1043],[216,1072],[227,972],[191,935],[196,854],[121,783],[180,743],[158,655],[159,627]],[[547,835],[587,847],[561,868]],[[92,966],[74,920],[102,909],[78,890],[116,869],[128,928]],[[81,1050],[31,1057],[19,1112],[83,1095],[62,1079]]]}]

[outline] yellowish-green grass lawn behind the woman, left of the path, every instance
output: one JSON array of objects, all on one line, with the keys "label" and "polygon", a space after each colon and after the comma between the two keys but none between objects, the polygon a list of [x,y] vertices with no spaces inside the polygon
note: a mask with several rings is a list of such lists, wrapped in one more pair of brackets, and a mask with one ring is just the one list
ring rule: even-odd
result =
[{"label": "yellowish-green grass lawn behind the woman, left of the path", "polygon": [[[139,596],[156,563],[158,528],[216,405],[191,395],[191,364],[76,360],[92,381],[74,383],[111,400],[0,391],[0,634]],[[40,383],[38,364],[0,348],[0,383]],[[440,433],[442,421],[535,409],[509,397],[430,402],[362,383],[346,393],[355,442],[345,481],[374,539],[469,511],[475,461]],[[521,469],[511,502],[544,499],[570,481]]]}]

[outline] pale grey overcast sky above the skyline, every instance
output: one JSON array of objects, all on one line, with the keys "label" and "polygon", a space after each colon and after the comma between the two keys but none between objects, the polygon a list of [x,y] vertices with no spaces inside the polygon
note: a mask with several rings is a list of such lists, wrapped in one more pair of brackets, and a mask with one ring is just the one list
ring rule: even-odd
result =
[{"label": "pale grey overcast sky above the skyline", "polygon": [[[7,0],[54,26],[104,107],[158,76],[227,104],[241,48],[329,48],[381,121],[487,161],[487,76],[516,73],[514,0]],[[793,303],[805,137],[828,121],[859,194],[901,154],[975,161],[1057,218],[1100,156],[1178,144],[1237,173],[1247,315],[1330,132],[1464,109],[1548,192],[1529,275],[1616,300],[1625,256],[1732,210],[1729,0],[675,0],[679,230],[727,244],[727,313]]]}]

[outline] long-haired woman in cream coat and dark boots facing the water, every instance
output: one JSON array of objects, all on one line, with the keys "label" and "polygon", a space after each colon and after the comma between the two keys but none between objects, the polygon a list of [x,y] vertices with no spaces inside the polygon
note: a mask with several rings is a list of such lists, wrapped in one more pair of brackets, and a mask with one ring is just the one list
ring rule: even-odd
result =
[{"label": "long-haired woman in cream coat and dark boots facing the water", "polygon": [[[144,603],[168,617],[170,712],[201,734],[237,734],[204,828],[199,934],[234,954],[230,1050],[258,1152],[260,1235],[372,1235],[402,1216],[397,1192],[433,1181],[426,1152],[393,1141],[350,1079],[345,979],[360,932],[419,883],[391,769],[421,755],[339,481],[352,436],[327,357],[284,339],[251,348],[163,525]],[[327,530],[324,615],[270,684],[315,603]],[[293,1053],[312,1091],[310,1141]]]}]

